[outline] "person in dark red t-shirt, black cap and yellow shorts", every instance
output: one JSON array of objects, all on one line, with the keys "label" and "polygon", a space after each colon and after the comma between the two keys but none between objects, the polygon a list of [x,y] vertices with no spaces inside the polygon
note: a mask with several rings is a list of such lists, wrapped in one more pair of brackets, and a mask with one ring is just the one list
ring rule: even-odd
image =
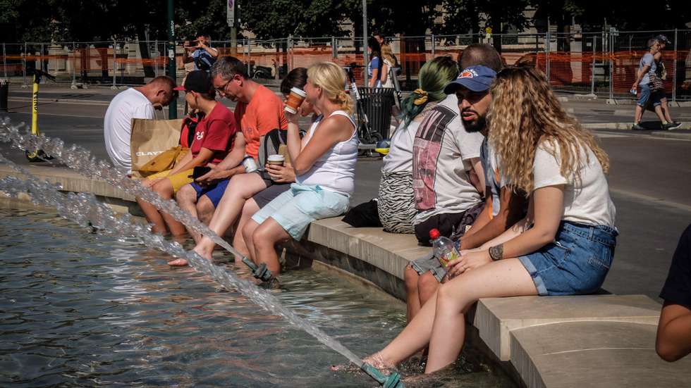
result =
[{"label": "person in dark red t-shirt, black cap and yellow shorts", "polygon": [[[178,189],[192,182],[195,167],[221,162],[228,155],[228,150],[233,149],[233,139],[237,132],[231,111],[215,99],[216,93],[209,73],[193,71],[185,78],[185,84],[176,90],[184,90],[185,101],[193,110],[202,112],[204,118],[195,127],[190,152],[172,170],[154,174],[142,183],[151,187],[163,199],[172,199]],[[242,156],[244,152],[244,147],[240,146],[231,153]],[[137,198],[137,203],[147,221],[153,224],[152,232],[165,233],[167,225],[173,236],[185,233],[185,225],[170,215],[159,212],[143,199]]]}]

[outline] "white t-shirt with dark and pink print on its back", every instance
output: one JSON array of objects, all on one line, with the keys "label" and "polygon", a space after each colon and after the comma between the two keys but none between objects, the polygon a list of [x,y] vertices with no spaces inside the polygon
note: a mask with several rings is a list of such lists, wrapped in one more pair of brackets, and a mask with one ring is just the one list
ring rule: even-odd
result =
[{"label": "white t-shirt with dark and pink print on its back", "polygon": [[412,189],[417,225],[433,215],[461,213],[478,204],[470,182],[470,159],[479,158],[484,137],[463,128],[458,98],[449,94],[420,123],[413,142]]}]

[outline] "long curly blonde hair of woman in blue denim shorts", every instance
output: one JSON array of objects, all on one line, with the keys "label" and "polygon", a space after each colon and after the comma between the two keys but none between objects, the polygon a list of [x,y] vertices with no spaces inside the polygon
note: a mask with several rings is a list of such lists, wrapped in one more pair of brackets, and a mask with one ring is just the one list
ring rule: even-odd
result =
[{"label": "long curly blonde hair of woman in blue denim shorts", "polygon": [[[542,143],[561,158],[561,175],[580,180],[580,169],[589,163],[591,149],[604,173],[609,157],[585,130],[565,113],[542,71],[519,66],[501,70],[490,87],[492,101],[487,115],[489,142],[496,150],[499,170],[514,190],[530,193],[535,151]],[[582,152],[586,151],[586,152]]]}]

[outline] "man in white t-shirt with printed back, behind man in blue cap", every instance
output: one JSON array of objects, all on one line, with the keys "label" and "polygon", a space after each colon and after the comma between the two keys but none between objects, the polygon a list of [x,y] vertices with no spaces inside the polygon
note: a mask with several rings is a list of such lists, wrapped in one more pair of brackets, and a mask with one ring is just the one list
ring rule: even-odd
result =
[{"label": "man in white t-shirt with printed back, behind man in blue cap", "polygon": [[[487,90],[494,79],[475,77],[470,80],[464,71],[455,82],[481,82]],[[483,138],[479,132],[470,133],[463,127],[455,93],[432,108],[420,123],[412,150],[412,189],[418,211],[412,223],[421,245],[430,245],[432,229],[450,236],[465,211],[480,203],[480,193],[484,192],[484,171],[479,160]]]}]

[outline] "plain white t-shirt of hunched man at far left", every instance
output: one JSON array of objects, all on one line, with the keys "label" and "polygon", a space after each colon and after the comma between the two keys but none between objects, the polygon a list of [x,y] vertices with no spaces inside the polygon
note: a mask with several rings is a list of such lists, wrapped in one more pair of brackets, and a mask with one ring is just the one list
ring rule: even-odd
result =
[{"label": "plain white t-shirt of hunched man at far left", "polygon": [[133,118],[154,118],[154,106],[144,94],[134,88],[118,93],[106,111],[103,134],[106,151],[118,168],[130,170],[130,134]]}]

